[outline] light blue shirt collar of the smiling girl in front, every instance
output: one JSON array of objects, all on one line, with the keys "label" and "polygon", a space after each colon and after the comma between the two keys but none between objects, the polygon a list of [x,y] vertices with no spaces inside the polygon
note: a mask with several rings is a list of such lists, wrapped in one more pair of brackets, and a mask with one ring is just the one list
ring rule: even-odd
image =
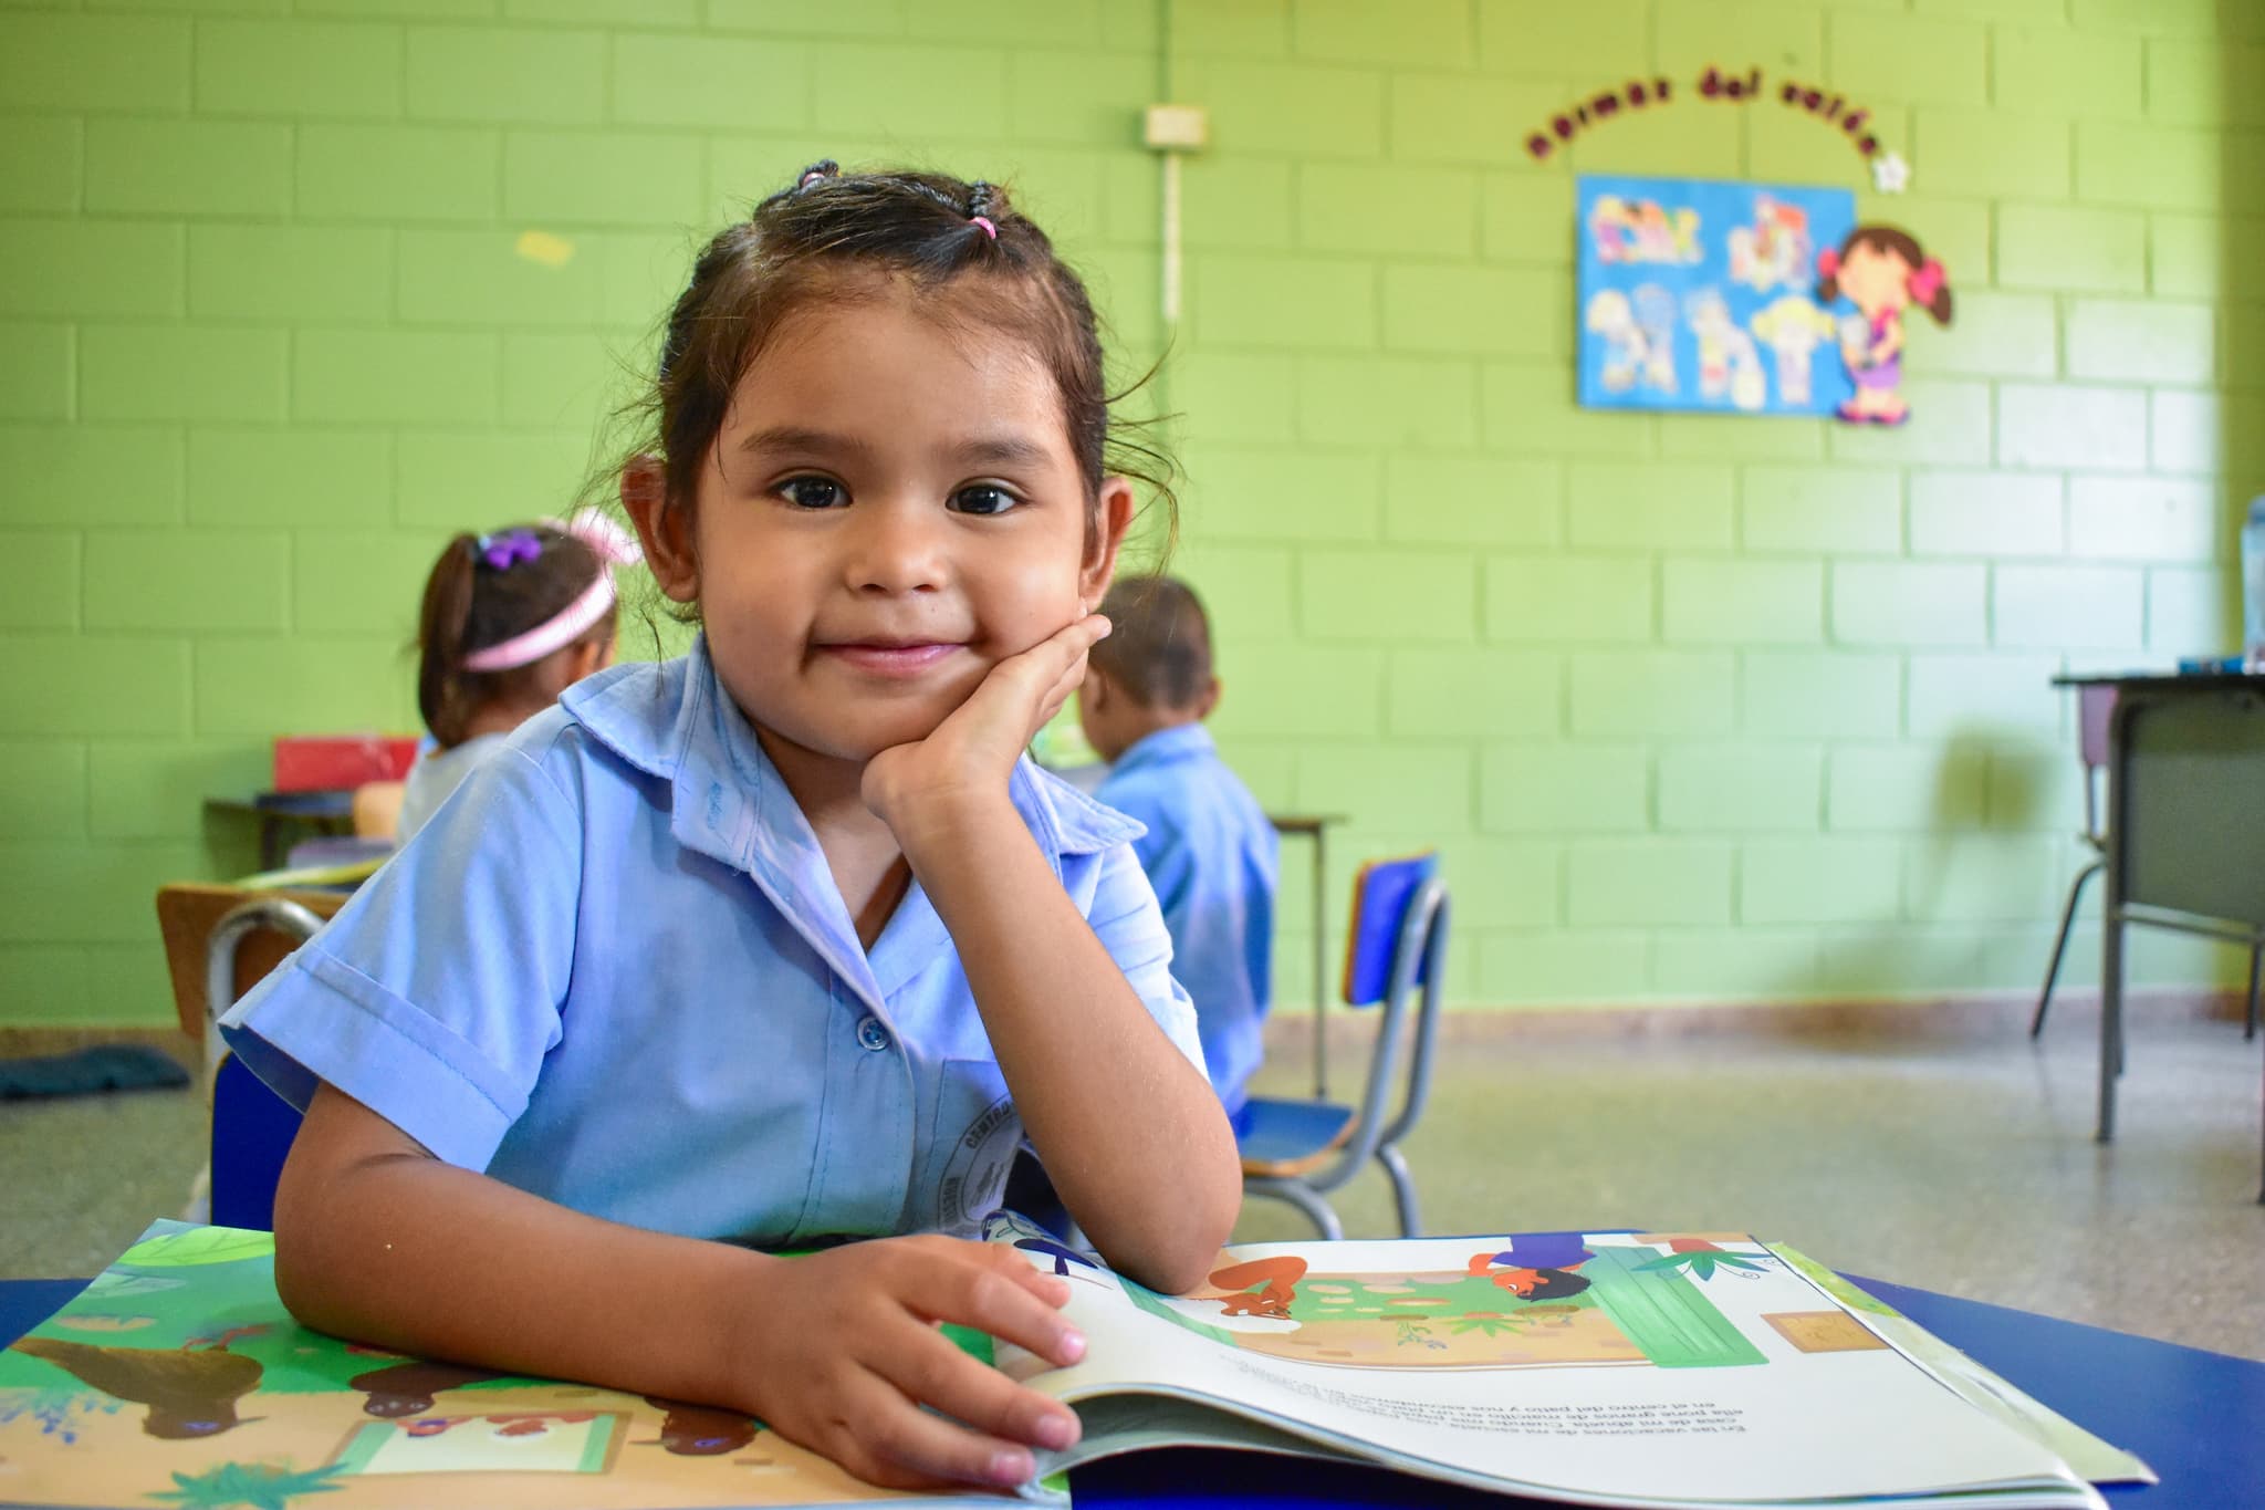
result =
[{"label": "light blue shirt collar of the smiling girl in front", "polygon": [[[704,634],[682,659],[598,672],[566,688],[559,704],[602,747],[668,781],[675,840],[752,876],[827,964],[877,1007],[947,940],[915,885],[867,958],[818,835],[716,677]],[[1146,833],[1028,756],[1015,763],[1008,797],[1055,876],[1069,856],[1103,853]]]}]

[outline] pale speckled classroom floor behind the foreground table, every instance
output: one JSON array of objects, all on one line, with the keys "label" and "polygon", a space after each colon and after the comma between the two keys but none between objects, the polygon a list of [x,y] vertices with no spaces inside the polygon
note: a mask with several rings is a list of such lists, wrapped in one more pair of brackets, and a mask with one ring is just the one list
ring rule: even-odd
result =
[{"label": "pale speckled classroom floor behind the foreground table", "polygon": [[[2265,1048],[2240,1023],[2140,1019],[2118,1141],[2097,1148],[2082,1001],[2054,1005],[2041,1048],[2011,1010],[1964,1021],[1780,1037],[1450,1019],[1407,1150],[1425,1222],[1755,1232],[1857,1275],[2265,1358]],[[1262,1089],[1309,1091],[1309,1066],[1284,1032]],[[1354,1069],[1341,1050],[1336,1093]],[[88,1275],[177,1216],[202,1121],[195,1091],[0,1103],[0,1277]],[[1339,1211],[1352,1236],[1388,1234],[1382,1175],[1341,1191]],[[1271,1202],[1237,1229],[1307,1234]]]}]

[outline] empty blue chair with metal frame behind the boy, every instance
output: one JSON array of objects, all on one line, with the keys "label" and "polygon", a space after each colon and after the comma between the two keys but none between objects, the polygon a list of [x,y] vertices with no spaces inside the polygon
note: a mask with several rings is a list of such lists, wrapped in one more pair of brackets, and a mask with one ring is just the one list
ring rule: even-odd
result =
[{"label": "empty blue chair with metal frame behind the boy", "polygon": [[[1364,865],[1352,881],[1343,998],[1348,1007],[1382,1005],[1384,1012],[1361,1105],[1271,1096],[1246,1100],[1234,1116],[1246,1195],[1298,1207],[1314,1218],[1320,1236],[1334,1241],[1345,1236],[1345,1225],[1327,1193],[1375,1159],[1393,1182],[1400,1236],[1422,1236],[1416,1179],[1400,1139],[1416,1127],[1431,1091],[1445,951],[1447,883],[1438,878],[1438,853]],[[1386,1112],[1395,1096],[1398,1105]]]}]

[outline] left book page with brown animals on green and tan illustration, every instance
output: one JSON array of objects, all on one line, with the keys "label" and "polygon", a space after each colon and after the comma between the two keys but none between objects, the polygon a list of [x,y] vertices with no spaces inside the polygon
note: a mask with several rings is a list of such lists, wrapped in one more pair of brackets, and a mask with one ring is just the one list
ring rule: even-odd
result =
[{"label": "left book page with brown animals on green and tan illustration", "polygon": [[[634,1279],[625,1279],[634,1284]],[[990,1338],[956,1336],[990,1356]],[[0,1503],[315,1510],[999,1505],[852,1478],[734,1410],[299,1327],[274,1234],[156,1222],[0,1347]]]}]

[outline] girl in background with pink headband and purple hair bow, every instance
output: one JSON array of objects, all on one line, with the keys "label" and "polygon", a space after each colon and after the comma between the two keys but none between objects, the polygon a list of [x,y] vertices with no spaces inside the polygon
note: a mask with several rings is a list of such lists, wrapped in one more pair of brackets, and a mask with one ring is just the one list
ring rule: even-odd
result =
[{"label": "girl in background with pink headband and purple hair bow", "polygon": [[401,795],[403,842],[503,736],[614,663],[614,566],[636,541],[605,514],[458,534],[417,614],[417,709],[433,749]]}]

